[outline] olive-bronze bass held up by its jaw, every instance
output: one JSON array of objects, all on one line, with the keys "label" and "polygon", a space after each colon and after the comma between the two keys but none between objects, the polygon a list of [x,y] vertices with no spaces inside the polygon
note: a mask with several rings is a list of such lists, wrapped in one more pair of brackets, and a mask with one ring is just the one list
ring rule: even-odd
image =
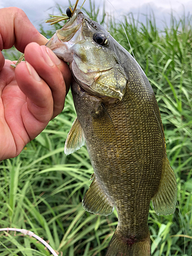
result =
[{"label": "olive-bronze bass held up by its jaw", "polygon": [[136,60],[102,26],[75,10],[47,46],[69,62],[77,118],[67,155],[87,144],[94,169],[84,209],[118,225],[106,256],[150,256],[147,218],[173,214],[177,184],[169,165],[158,104]]}]

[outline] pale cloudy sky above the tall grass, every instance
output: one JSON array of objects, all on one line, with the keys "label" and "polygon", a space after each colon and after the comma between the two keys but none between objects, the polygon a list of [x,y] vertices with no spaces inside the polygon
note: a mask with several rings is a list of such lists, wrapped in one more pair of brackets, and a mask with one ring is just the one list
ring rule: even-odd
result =
[{"label": "pale cloudy sky above the tall grass", "polygon": [[[104,0],[96,0],[102,6]],[[79,7],[82,4],[82,0],[79,1]],[[44,28],[49,29],[48,24],[45,24],[45,20],[49,18],[49,14],[58,14],[56,9],[56,3],[63,7],[63,10],[69,7],[68,0],[0,0],[0,8],[4,7],[19,7],[25,11],[27,16],[33,25],[38,29],[39,24],[42,24]],[[71,0],[74,4],[75,0]],[[86,0],[84,7],[89,8],[89,0]],[[144,21],[144,14],[149,14],[150,10],[153,10],[157,26],[163,27],[163,22],[169,23],[169,17],[171,11],[176,17],[181,17],[183,13],[187,15],[192,14],[192,1],[190,0],[105,0],[105,10],[108,13],[114,13],[115,17],[119,19],[118,15],[126,15],[129,12],[133,12],[134,17],[139,15],[140,21]],[[118,15],[117,15],[117,13]]]}]

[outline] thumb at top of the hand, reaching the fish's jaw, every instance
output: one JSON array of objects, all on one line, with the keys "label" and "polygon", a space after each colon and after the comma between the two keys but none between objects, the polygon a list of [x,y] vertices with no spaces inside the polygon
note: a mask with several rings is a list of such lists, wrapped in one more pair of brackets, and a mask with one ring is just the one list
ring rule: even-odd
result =
[{"label": "thumb at top of the hand, reaching the fish's jaw", "polygon": [[48,39],[41,35],[32,25],[22,9],[8,7],[0,9],[0,50],[9,49],[13,45],[24,52],[30,42],[45,45]]}]

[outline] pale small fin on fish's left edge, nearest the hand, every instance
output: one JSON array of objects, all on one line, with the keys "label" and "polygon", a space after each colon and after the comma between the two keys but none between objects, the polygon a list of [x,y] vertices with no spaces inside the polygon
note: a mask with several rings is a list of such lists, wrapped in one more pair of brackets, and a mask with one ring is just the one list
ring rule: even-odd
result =
[{"label": "pale small fin on fish's left edge, nearest the hand", "polygon": [[84,134],[82,131],[82,127],[78,118],[76,117],[75,121],[72,124],[71,130],[67,136],[67,140],[65,143],[65,154],[70,155],[75,151],[79,150],[81,146],[85,143]]}]

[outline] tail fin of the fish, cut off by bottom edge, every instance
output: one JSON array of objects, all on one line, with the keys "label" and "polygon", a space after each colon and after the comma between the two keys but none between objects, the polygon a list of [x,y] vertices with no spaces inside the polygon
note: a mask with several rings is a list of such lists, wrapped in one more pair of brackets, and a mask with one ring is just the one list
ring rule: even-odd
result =
[{"label": "tail fin of the fish, cut off by bottom edge", "polygon": [[125,238],[115,230],[105,256],[151,256],[150,233],[143,241],[134,237]]}]

